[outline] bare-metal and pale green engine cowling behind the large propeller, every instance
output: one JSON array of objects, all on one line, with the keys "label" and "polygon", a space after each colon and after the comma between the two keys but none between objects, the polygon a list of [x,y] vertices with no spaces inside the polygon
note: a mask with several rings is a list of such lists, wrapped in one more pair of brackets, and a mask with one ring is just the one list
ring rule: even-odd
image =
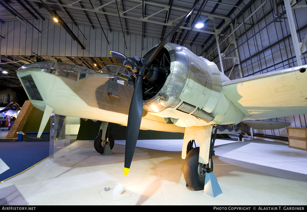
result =
[{"label": "bare-metal and pale green engine cowling behind the large propeller", "polygon": [[[222,82],[229,79],[214,62],[185,47],[167,43],[151,63],[151,72],[143,83],[143,107],[169,124],[215,124],[234,107],[221,92]],[[219,100],[226,105],[215,110]]]}]

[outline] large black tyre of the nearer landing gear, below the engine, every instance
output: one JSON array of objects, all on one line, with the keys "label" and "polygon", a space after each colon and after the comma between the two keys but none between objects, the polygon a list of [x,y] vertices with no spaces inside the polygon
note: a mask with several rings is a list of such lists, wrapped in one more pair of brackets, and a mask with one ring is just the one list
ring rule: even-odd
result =
[{"label": "large black tyre of the nearer landing gear, below the engine", "polygon": [[198,162],[199,147],[193,148],[185,157],[183,176],[188,186],[194,190],[203,190],[205,184],[206,164]]}]

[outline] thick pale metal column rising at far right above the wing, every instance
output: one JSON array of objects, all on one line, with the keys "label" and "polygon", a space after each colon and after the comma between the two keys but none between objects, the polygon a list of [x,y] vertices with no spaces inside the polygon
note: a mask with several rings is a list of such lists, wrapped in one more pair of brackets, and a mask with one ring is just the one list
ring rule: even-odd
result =
[{"label": "thick pale metal column rising at far right above the wing", "polygon": [[297,39],[297,33],[296,33],[295,23],[293,19],[292,9],[291,9],[289,0],[284,0],[284,3],[285,3],[286,13],[288,17],[289,26],[290,26],[293,47],[294,47],[294,51],[295,51],[295,55],[297,59],[297,66],[302,66],[303,63],[301,60],[301,50],[300,50],[301,46],[299,46],[298,39]]}]

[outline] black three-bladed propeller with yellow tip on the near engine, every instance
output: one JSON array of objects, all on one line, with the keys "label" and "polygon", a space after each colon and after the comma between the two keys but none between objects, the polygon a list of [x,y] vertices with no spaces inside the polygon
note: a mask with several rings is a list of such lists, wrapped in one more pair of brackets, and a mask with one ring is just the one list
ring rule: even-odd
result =
[{"label": "black three-bladed propeller with yellow tip on the near engine", "polygon": [[[198,4],[198,3],[197,3]],[[130,103],[128,123],[127,123],[127,134],[126,134],[126,149],[125,149],[125,165],[124,174],[127,175],[130,169],[131,161],[133,158],[136,142],[138,140],[138,133],[142,121],[143,113],[143,94],[142,94],[142,84],[143,78],[148,76],[151,71],[150,63],[165,46],[165,44],[173,37],[182,23],[192,14],[195,6],[188,12],[188,14],[183,18],[179,24],[146,56],[140,60],[137,56],[134,56],[132,60],[127,58],[125,55],[111,51],[111,55],[118,61],[123,61],[123,66],[130,68],[136,76],[134,92]]]}]

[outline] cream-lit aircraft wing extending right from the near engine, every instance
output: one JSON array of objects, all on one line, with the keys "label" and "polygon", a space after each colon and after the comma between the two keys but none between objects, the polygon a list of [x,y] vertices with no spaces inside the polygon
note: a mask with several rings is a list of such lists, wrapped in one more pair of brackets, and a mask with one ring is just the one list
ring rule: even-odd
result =
[{"label": "cream-lit aircraft wing extending right from the near engine", "polygon": [[243,112],[244,120],[307,113],[304,66],[222,83],[223,94]]}]

